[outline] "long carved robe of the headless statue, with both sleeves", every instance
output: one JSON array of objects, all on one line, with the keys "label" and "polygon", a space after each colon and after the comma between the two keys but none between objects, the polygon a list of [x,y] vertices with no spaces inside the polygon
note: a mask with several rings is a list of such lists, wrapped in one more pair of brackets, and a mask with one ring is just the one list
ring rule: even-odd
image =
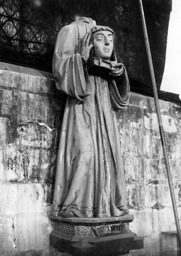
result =
[{"label": "long carved robe of the headless statue, with both sleeves", "polygon": [[119,79],[92,76],[80,56],[82,38],[95,26],[90,18],[64,26],[53,58],[56,87],[67,101],[57,156],[54,201],[78,217],[121,214],[127,204],[115,110],[129,101],[126,70]]}]

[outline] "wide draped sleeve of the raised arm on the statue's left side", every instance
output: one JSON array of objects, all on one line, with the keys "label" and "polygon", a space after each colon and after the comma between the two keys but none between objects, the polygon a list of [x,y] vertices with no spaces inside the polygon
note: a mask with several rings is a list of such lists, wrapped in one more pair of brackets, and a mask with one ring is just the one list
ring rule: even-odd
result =
[{"label": "wide draped sleeve of the raised arm on the statue's left side", "polygon": [[89,75],[83,68],[80,53],[76,52],[77,28],[64,26],[56,40],[53,56],[53,74],[58,90],[78,100],[91,94]]}]

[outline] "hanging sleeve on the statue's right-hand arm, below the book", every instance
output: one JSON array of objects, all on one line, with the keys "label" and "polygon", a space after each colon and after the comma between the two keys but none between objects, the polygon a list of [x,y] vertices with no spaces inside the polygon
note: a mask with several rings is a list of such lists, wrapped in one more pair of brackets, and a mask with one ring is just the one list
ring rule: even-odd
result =
[{"label": "hanging sleeve on the statue's right-hand arm, below the book", "polygon": [[129,80],[126,69],[124,68],[124,75],[121,78],[112,79],[109,84],[109,93],[112,107],[115,110],[121,110],[128,105],[130,97]]}]

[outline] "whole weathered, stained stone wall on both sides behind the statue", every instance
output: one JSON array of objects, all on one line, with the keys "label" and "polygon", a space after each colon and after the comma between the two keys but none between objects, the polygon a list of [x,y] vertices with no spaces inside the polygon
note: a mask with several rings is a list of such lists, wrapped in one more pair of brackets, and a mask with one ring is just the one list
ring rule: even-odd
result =
[{"label": "whole weathered, stained stone wall on both sides behind the statue", "polygon": [[[60,127],[66,97],[52,74],[0,63],[0,255],[49,247]],[[181,197],[181,107],[160,100],[178,206]],[[117,113],[132,231],[160,255],[161,231],[175,230],[152,98],[132,93]],[[181,215],[178,208],[179,217]]]}]

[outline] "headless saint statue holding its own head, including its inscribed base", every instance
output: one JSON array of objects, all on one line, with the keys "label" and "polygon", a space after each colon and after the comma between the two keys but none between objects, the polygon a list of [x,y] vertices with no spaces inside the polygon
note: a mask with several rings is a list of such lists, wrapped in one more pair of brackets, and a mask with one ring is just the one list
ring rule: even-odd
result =
[{"label": "headless saint statue holding its own head, including its inscribed base", "polygon": [[129,81],[115,57],[112,29],[86,17],[63,27],[53,72],[67,101],[50,215],[51,245],[73,256],[120,256],[143,248],[143,239],[129,230],[133,215],[126,214],[115,111],[128,104]]}]

